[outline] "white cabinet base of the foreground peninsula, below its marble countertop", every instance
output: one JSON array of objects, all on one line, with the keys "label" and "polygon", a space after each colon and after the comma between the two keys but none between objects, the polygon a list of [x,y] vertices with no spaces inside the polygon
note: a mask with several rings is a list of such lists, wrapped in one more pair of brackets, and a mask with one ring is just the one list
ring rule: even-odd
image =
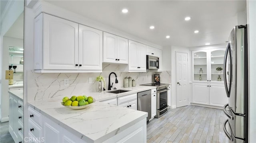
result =
[{"label": "white cabinet base of the foreground peninsula, below its marble countertop", "polygon": [[[135,102],[132,101],[131,103]],[[137,102],[137,100],[136,100]],[[132,104],[133,105],[133,104]],[[134,104],[135,106],[135,104]],[[133,106],[132,106],[133,107]],[[30,108],[31,110],[32,108]],[[137,104],[136,104],[137,109]],[[42,118],[42,126],[38,125],[38,119],[29,118],[28,119],[28,139],[26,142],[29,143],[84,143],[86,141],[82,140],[81,137],[78,137],[58,123],[55,123],[51,119],[43,116],[39,112],[33,109],[33,113],[37,113]],[[29,138],[34,138],[34,140],[30,140]],[[106,143],[114,143],[114,142],[122,142],[122,143],[146,143],[146,118],[138,121],[134,125],[131,125],[124,131],[114,135],[110,139],[103,141]]]}]

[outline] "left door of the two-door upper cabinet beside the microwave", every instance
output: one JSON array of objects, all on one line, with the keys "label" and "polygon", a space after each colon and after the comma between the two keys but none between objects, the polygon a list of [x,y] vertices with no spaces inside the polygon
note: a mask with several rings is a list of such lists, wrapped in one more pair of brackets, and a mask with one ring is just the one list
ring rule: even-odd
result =
[{"label": "left door of the two-door upper cabinet beside the microwave", "polygon": [[[138,71],[138,47],[139,43],[129,40],[129,70]],[[145,57],[146,59],[146,57]],[[146,62],[145,62],[146,64]]]}]

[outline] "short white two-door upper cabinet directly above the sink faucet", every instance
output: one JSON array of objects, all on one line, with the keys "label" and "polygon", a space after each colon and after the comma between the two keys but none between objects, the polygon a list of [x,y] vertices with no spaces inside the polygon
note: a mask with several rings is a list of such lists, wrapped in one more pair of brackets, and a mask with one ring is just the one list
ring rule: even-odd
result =
[{"label": "short white two-door upper cabinet directly above the sink faucet", "polygon": [[103,33],[103,62],[128,64],[128,39]]}]

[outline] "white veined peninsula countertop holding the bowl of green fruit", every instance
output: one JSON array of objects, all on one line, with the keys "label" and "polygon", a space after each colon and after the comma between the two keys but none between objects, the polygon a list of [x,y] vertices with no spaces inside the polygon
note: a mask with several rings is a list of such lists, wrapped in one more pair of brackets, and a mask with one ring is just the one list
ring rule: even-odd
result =
[{"label": "white veined peninsula countertop holding the bowl of green fruit", "polygon": [[72,110],[60,104],[62,97],[28,102],[35,110],[88,143],[100,143],[148,116],[147,112],[102,102]]}]

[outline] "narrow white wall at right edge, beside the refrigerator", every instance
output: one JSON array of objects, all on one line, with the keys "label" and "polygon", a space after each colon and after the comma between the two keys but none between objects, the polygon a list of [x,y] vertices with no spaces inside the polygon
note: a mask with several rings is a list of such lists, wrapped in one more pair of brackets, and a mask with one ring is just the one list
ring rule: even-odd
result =
[{"label": "narrow white wall at right edge, beside the refrigerator", "polygon": [[256,1],[247,0],[248,48],[249,48],[249,141],[256,141]]}]

